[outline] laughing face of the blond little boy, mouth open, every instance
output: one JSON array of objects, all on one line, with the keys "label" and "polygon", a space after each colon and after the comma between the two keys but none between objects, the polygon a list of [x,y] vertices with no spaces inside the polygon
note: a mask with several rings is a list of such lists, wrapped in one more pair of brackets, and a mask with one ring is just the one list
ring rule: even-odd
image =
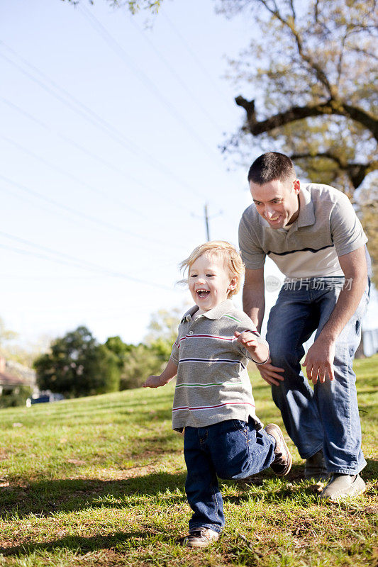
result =
[{"label": "laughing face of the blond little boy, mouth open", "polygon": [[228,293],[235,289],[238,276],[230,277],[217,254],[202,254],[189,268],[189,291],[196,305],[209,311],[226,301]]}]

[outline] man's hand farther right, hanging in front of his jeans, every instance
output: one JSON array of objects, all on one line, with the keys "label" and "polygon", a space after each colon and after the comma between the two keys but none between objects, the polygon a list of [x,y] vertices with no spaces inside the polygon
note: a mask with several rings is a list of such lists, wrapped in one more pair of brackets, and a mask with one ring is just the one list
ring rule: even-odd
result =
[{"label": "man's hand farther right, hanging in front of his jeans", "polygon": [[306,366],[307,378],[313,384],[317,381],[323,383],[326,378],[333,380],[333,361],[335,359],[335,342],[317,339],[308,349],[304,366]]}]

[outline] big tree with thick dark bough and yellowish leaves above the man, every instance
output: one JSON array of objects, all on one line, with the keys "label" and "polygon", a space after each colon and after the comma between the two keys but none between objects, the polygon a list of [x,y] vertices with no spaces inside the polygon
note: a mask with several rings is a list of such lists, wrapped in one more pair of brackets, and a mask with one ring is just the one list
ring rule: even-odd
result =
[{"label": "big tree with thick dark bough and yellowish leaves above the man", "polygon": [[243,153],[252,134],[259,150],[275,146],[351,194],[378,168],[376,2],[218,0],[218,11],[245,11],[260,28],[232,62],[253,98],[235,99],[245,123],[226,147]]}]

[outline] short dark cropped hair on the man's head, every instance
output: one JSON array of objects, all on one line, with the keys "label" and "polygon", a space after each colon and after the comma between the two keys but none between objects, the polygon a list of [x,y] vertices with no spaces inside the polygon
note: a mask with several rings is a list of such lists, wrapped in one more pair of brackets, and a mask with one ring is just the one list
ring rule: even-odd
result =
[{"label": "short dark cropped hair on the man's head", "polygon": [[296,178],[295,169],[291,159],[279,152],[267,152],[260,155],[252,163],[248,172],[248,183],[252,181],[257,185],[264,185],[274,179],[286,181]]}]

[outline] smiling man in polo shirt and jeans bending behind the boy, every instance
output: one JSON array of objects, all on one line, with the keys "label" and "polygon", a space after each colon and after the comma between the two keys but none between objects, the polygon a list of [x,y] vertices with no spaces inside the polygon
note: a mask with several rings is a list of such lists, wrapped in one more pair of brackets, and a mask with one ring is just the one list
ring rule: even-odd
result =
[{"label": "smiling man in polo shirt and jeans bending behind the boy", "polygon": [[[368,301],[365,236],[347,196],[301,184],[289,157],[268,152],[248,173],[253,204],[240,220],[243,307],[260,330],[268,255],[286,279],[269,314],[270,360],[259,366],[302,459],[306,478],[330,481],[321,498],[364,492],[366,461],[352,359]],[[316,331],[301,373],[303,344]]]}]

